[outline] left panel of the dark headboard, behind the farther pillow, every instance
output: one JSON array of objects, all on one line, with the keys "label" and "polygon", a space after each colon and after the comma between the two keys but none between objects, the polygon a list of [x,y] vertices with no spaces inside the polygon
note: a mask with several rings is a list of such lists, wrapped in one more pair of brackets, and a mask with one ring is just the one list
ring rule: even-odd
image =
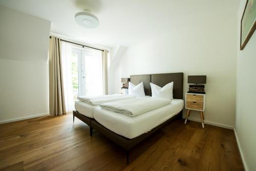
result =
[{"label": "left panel of the dark headboard, behind the farther pillow", "polygon": [[144,91],[146,96],[151,96],[151,74],[144,74],[144,75],[131,75],[130,77],[131,83],[137,85],[141,82],[143,82],[144,85]]}]

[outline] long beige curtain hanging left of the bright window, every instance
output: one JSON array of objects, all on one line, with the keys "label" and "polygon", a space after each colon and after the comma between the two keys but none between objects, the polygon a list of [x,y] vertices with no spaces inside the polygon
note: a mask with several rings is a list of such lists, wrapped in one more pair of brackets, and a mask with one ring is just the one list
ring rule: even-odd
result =
[{"label": "long beige curtain hanging left of the bright window", "polygon": [[49,44],[49,109],[50,115],[67,113],[61,67],[61,41],[51,36]]}]

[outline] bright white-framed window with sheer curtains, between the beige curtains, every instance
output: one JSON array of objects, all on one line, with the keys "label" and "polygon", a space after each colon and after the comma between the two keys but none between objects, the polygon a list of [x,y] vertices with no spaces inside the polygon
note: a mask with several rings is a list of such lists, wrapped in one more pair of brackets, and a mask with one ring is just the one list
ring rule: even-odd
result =
[{"label": "bright white-framed window with sheer curtains, between the beige curtains", "polygon": [[62,42],[61,53],[65,103],[71,111],[77,96],[103,94],[102,51]]}]

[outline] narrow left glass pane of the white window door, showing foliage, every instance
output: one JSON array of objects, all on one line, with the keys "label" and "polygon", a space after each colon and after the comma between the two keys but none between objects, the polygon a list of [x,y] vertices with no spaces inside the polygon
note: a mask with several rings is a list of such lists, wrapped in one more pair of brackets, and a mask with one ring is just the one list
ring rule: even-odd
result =
[{"label": "narrow left glass pane of the white window door, showing foliage", "polygon": [[74,94],[74,101],[78,96],[78,53],[72,53],[71,55],[71,62],[72,62],[72,85],[73,85],[73,94]]}]

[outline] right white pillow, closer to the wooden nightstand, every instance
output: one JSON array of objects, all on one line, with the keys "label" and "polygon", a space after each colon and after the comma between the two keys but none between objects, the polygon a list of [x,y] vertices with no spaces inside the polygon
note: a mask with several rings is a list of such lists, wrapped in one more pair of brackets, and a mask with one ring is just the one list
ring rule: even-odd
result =
[{"label": "right white pillow, closer to the wooden nightstand", "polygon": [[173,99],[174,82],[168,83],[162,88],[153,83],[150,83],[150,86],[152,90],[152,98]]}]

